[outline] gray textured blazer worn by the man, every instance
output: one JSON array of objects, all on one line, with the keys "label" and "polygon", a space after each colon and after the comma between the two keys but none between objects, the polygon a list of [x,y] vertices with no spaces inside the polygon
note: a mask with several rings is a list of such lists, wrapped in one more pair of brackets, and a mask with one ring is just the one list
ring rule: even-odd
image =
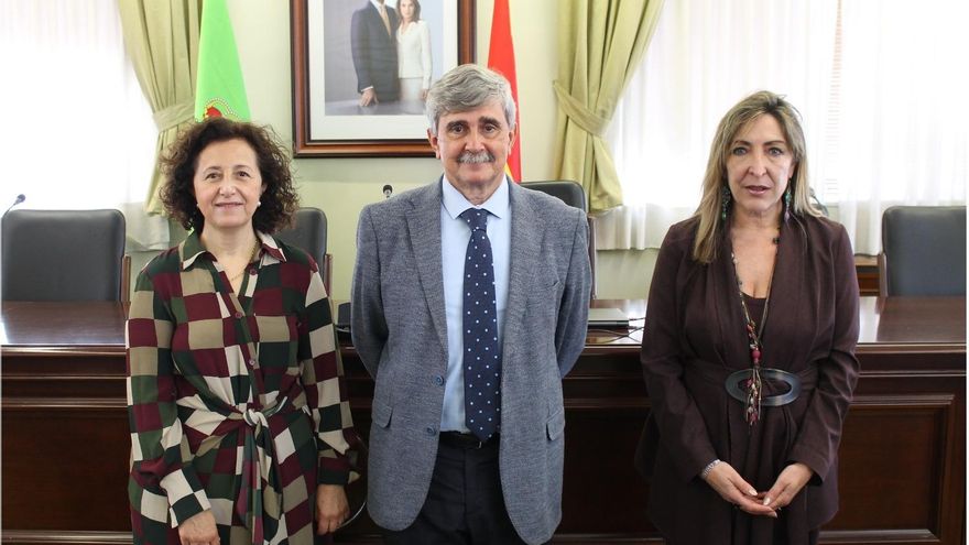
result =
[{"label": "gray textured blazer worn by the man", "polygon": [[[440,184],[366,207],[357,233],[353,345],[373,377],[368,509],[389,530],[424,505],[444,404],[447,327]],[[562,519],[562,378],[583,350],[589,306],[585,214],[510,184],[511,258],[501,377],[501,487],[527,543]]]}]

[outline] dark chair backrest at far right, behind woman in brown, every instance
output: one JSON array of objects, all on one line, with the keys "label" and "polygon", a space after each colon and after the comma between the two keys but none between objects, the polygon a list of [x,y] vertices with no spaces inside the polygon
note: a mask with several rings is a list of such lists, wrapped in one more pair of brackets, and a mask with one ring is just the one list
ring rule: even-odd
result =
[{"label": "dark chair backrest at far right, behind woman in brown", "polygon": [[882,295],[966,295],[966,207],[886,209],[882,254]]}]

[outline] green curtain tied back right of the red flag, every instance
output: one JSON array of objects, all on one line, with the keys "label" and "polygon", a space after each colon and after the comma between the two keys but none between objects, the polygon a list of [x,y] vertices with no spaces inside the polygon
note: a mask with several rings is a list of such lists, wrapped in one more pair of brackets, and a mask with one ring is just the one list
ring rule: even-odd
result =
[{"label": "green curtain tied back right of the red flag", "polygon": [[616,165],[602,140],[616,105],[656,30],[664,0],[563,2],[558,24],[555,164],[558,179],[575,179],[589,210],[622,204]]}]

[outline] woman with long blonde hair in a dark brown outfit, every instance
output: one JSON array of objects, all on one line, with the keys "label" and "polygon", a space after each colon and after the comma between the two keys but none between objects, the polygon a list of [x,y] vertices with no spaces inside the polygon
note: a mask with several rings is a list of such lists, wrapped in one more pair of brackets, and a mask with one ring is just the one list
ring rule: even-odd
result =
[{"label": "woman with long blonde hair in a dark brown outfit", "polygon": [[646,308],[636,464],[667,543],[816,543],[838,509],[858,283],[845,228],[809,201],[782,97],[756,92],[720,121],[703,200],[669,228]]}]

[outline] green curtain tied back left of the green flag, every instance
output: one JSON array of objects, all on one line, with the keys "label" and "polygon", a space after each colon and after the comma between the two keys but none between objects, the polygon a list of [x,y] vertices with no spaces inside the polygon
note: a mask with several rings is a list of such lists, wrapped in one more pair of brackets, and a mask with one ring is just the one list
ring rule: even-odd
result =
[{"label": "green curtain tied back left of the green flag", "polygon": [[[124,47],[148,98],[159,142],[155,156],[194,120],[198,26],[203,0],[121,0]],[[145,211],[162,214],[159,188],[164,177],[155,162]]]}]

